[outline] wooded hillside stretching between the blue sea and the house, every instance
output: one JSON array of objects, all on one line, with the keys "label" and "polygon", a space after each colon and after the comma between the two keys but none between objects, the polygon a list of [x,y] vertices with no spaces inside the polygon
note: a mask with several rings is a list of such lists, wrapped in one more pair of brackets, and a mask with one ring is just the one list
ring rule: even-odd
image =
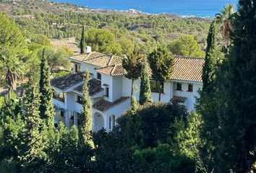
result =
[{"label": "wooded hillside stretching between the blue sea and the house", "polygon": [[156,45],[166,46],[181,35],[193,35],[201,48],[205,49],[210,22],[210,19],[182,18],[176,14],[151,15],[136,11],[86,9],[44,0],[1,0],[0,10],[15,19],[27,38],[42,34],[55,40],[69,37],[79,40],[82,25],[85,25],[87,31],[97,28],[113,33],[122,48],[121,53],[129,52],[130,48],[127,47],[134,43],[150,52]]}]

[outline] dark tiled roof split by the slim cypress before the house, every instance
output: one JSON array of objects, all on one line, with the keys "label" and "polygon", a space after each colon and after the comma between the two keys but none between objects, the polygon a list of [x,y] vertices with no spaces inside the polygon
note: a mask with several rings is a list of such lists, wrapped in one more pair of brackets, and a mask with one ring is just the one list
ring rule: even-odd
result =
[{"label": "dark tiled roof split by the slim cypress before the house", "polygon": [[[84,84],[81,84],[80,86],[77,86],[74,90],[82,93],[83,86]],[[88,86],[90,96],[93,96],[103,91],[103,88],[101,88],[101,81],[98,79],[90,79],[90,81],[88,81]]]}]

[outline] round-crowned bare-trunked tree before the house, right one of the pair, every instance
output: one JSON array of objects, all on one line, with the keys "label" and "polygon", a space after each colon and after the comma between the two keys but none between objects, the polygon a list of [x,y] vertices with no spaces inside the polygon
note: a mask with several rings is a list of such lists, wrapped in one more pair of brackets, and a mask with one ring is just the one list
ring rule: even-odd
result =
[{"label": "round-crowned bare-trunked tree before the house, right one of the pair", "polygon": [[174,56],[166,48],[159,47],[150,53],[148,60],[152,70],[152,78],[158,81],[158,101],[160,102],[163,82],[171,79],[171,74],[174,71]]}]

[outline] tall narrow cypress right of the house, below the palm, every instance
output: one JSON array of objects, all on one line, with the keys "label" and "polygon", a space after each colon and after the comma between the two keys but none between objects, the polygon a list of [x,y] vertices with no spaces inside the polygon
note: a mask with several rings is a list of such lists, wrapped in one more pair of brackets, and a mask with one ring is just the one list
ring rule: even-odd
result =
[{"label": "tall narrow cypress right of the house, below the palm", "polygon": [[[208,46],[206,48],[205,64],[202,68],[202,91],[200,91],[200,99],[196,106],[197,112],[202,115],[202,128],[200,128],[200,138],[202,146],[200,146],[200,169],[203,172],[212,172],[216,169],[216,150],[218,145],[218,107],[219,97],[218,91],[221,83],[220,67],[224,54],[216,45],[216,20],[214,19],[210,25],[208,32]],[[224,74],[224,73],[223,73]],[[221,74],[221,75],[223,75]],[[224,75],[223,75],[224,76]]]}]

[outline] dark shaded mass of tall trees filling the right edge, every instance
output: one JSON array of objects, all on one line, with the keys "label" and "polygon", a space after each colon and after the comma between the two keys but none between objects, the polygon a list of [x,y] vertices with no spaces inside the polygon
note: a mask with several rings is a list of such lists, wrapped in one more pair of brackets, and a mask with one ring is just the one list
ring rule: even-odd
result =
[{"label": "dark shaded mass of tall trees filling the right edge", "polygon": [[204,74],[204,84],[210,85],[204,86],[197,107],[206,172],[255,172],[255,3],[240,0],[233,17],[223,63],[218,62],[221,54],[210,54],[216,51],[213,27],[208,36],[205,66],[216,77],[213,82]]}]

